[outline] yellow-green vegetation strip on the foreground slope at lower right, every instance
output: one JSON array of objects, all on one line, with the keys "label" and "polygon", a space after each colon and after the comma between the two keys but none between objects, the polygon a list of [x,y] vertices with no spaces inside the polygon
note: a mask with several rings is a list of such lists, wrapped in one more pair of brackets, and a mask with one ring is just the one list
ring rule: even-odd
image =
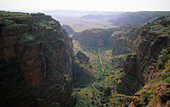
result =
[{"label": "yellow-green vegetation strip on the foreground slope at lower right", "polygon": [[[165,63],[165,68],[160,69],[157,73],[154,74],[154,79],[150,81],[150,89],[143,89],[139,91],[140,94],[140,104],[150,107],[153,103],[155,92],[162,84],[170,83],[170,58]],[[169,102],[167,102],[169,103]]]}]

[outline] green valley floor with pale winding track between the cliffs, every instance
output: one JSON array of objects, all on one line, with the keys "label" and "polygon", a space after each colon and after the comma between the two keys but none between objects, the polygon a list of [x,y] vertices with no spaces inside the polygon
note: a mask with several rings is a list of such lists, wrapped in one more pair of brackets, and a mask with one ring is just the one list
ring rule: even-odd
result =
[{"label": "green valley floor with pale winding track between the cliffs", "polygon": [[[132,96],[118,94],[115,90],[118,78],[121,75],[123,59],[128,55],[112,56],[111,47],[84,47],[73,40],[74,51],[81,51],[89,58],[89,72],[96,78],[88,86],[74,88],[76,107],[119,107],[130,104]],[[83,71],[80,71],[83,72]],[[89,78],[86,78],[87,80]],[[86,80],[85,80],[86,81]]]}]

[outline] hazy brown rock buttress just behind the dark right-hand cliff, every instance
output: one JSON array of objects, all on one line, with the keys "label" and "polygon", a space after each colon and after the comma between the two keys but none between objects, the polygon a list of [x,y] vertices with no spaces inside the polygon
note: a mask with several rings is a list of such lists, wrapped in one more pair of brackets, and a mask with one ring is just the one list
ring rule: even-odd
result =
[{"label": "hazy brown rock buttress just behind the dark right-hand cliff", "polygon": [[[136,51],[139,43],[138,36],[143,31],[142,26],[134,27],[126,25],[120,28],[125,28],[124,33],[113,42],[112,55],[129,54]],[[115,33],[115,32],[114,32]]]}]

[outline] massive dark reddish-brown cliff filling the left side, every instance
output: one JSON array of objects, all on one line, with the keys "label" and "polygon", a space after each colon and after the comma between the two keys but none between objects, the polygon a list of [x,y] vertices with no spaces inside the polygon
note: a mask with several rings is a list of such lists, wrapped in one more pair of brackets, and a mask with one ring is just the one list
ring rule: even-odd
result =
[{"label": "massive dark reddish-brown cliff filling the left side", "polygon": [[73,55],[51,16],[1,12],[0,106],[71,106]]}]

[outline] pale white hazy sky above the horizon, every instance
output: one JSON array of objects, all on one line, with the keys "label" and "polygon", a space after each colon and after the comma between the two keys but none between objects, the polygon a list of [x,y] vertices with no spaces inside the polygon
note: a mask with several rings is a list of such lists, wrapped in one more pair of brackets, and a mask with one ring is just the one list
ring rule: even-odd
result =
[{"label": "pale white hazy sky above the horizon", "polygon": [[170,0],[0,0],[0,10],[168,10]]}]

